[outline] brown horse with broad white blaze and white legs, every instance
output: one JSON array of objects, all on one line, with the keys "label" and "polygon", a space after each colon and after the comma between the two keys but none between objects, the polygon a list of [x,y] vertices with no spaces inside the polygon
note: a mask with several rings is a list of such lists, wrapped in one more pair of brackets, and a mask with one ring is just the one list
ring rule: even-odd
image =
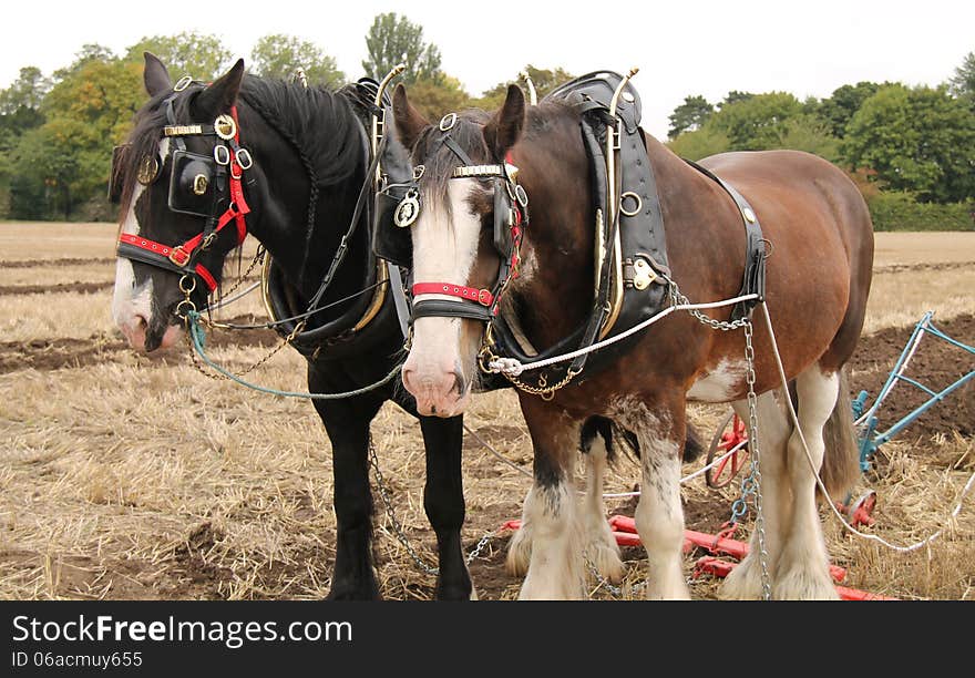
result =
[{"label": "brown horse with broad white blaze and white legs", "polygon": [[[393,110],[401,140],[413,148],[414,163],[425,166],[419,184],[423,209],[411,228],[414,280],[469,289],[494,284],[500,256],[490,246],[495,205],[491,186],[459,176],[463,173],[455,168],[507,161],[520,170],[517,182],[531,197],[532,218],[521,243],[520,276],[507,286],[502,311],[516,317],[535,347],[553,346],[575,330],[593,308],[594,279],[593,198],[579,113],[558,101],[526,106],[521,90],[512,86],[493,116],[470,112],[450,121],[449,147],[443,134],[410,105],[402,88]],[[742,212],[712,178],[646,133],[643,137],[656,175],[670,279],[692,302],[736,297],[746,265]],[[455,147],[470,162],[459,160]],[[771,338],[757,310],[755,391],[767,557],[758,556],[759,531],[753,531],[752,555],[728,578],[722,595],[759,597],[763,562],[773,597],[834,598],[812,469],[820,471],[830,493],[848,489],[859,473],[842,369],[866,310],[873,261],[870,216],[853,183],[813,155],[727,153],[701,165],[747,198],[771,244],[764,301],[784,372],[794,380],[801,429],[800,435],[787,415],[789,396],[781,389]],[[500,186],[494,184],[497,191]],[[452,297],[420,294],[414,309],[438,298]],[[730,309],[707,314],[726,321]],[[414,311],[403,383],[421,413],[450,417],[463,411],[483,337],[483,321]],[[638,440],[643,494],[636,524],[649,559],[648,597],[688,596],[678,484],[686,403],[730,402],[747,417],[745,349],[741,330],[715,331],[689,314],[673,312],[639,333],[604,369],[583,374],[551,400],[520,391],[535,449],[524,536],[513,541],[509,554],[516,568],[528,563],[522,597],[581,593],[572,477],[581,422],[593,414],[615,421]]]}]

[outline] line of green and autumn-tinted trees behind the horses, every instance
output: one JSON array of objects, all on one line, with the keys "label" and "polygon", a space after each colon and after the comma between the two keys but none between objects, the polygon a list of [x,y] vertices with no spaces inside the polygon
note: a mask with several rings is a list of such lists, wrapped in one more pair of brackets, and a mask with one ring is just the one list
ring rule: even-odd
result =
[{"label": "line of green and autumn-tinted trees behind the horses", "polygon": [[[507,83],[519,80],[512,74],[480,96],[469,94],[442,70],[440,50],[424,39],[422,27],[394,12],[377,16],[365,40],[362,73],[379,79],[406,63],[402,78],[411,100],[431,120],[466,106],[495,109]],[[218,38],[189,32],[145,37],[123,54],[85,44],[50,76],[22,68],[0,91],[0,218],[115,217],[105,199],[111,150],[125,141],[145,101],[145,51],[158,55],[174,79],[212,80],[233,62]],[[253,74],[284,80],[300,69],[310,86],[333,89],[349,80],[319,47],[286,34],[259,39],[247,66]],[[560,68],[528,64],[525,71],[540,96],[572,78]],[[871,208],[881,207],[878,214],[890,213],[895,203],[941,222],[937,209],[952,206],[942,212],[963,215],[961,227],[972,228],[975,52],[937,88],[861,82],[805,101],[784,92],[731,91],[716,103],[687,96],[670,115],[668,136],[671,150],[691,160],[732,150],[817,153],[846,170]]]}]

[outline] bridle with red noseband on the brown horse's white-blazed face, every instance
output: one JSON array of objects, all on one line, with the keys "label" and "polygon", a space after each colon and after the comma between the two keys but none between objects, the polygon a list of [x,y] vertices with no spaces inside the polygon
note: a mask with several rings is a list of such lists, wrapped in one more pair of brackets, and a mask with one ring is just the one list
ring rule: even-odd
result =
[{"label": "bridle with red noseband on the brown horse's white-blazed face", "polygon": [[[456,114],[444,115],[440,121],[443,132],[441,143],[445,145],[463,163],[455,167],[450,178],[491,179],[494,183],[494,248],[501,257],[497,281],[491,289],[476,289],[453,282],[415,282],[412,287],[413,297],[419,295],[445,295],[451,299],[423,299],[413,302],[413,319],[435,318],[470,318],[490,322],[496,315],[499,302],[504,289],[512,279],[519,276],[521,263],[521,244],[524,227],[528,224],[528,196],[517,183],[517,167],[511,163],[511,155],[505,162],[495,165],[475,165],[458,143],[451,138],[450,131],[456,124]],[[419,178],[423,174],[423,165],[414,170],[414,189],[408,192],[401,203],[402,210],[409,214],[409,220],[397,222],[398,226],[409,226],[419,216]],[[407,207],[408,201],[412,205]]]}]

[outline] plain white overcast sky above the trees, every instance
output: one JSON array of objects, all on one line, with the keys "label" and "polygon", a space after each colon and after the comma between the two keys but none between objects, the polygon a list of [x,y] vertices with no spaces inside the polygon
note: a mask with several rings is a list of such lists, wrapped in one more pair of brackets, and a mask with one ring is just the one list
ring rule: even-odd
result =
[{"label": "plain white overcast sky above the trees", "polygon": [[[606,16],[584,13],[593,7]],[[0,89],[21,66],[51,74],[68,65],[84,43],[122,53],[145,35],[183,31],[216,34],[245,60],[261,35],[292,34],[319,45],[356,79],[366,32],[387,11],[420,23],[425,40],[440,48],[443,70],[473,94],[514,78],[526,63],[578,74],[638,65],[634,84],[644,126],[657,137],[666,136],[667,116],[688,94],[716,102],[732,89],[804,99],[861,80],[935,85],[975,51],[972,0],[637,0],[629,7],[568,0],[28,1],[3,9]]]}]

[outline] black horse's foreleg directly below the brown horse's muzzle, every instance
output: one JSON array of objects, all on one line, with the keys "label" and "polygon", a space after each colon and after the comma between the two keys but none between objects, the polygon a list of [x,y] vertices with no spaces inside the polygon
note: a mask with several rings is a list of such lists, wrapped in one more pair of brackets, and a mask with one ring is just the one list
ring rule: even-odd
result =
[{"label": "black horse's foreleg directly below the brown horse's muzzle", "polygon": [[440,575],[437,597],[441,600],[475,598],[461,542],[464,524],[464,485],[461,474],[463,417],[421,417],[427,446],[427,485],[423,507],[437,534]]}]

